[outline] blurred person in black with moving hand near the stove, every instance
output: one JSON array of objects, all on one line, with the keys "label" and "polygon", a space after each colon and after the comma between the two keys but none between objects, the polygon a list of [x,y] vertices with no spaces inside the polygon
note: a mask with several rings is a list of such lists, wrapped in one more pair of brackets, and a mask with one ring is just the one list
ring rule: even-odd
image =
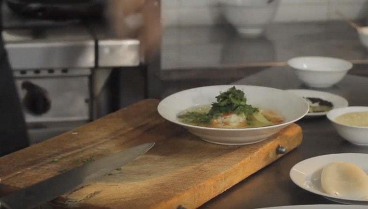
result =
[{"label": "blurred person in black with moving hand near the stove", "polygon": [[[151,11],[159,8],[158,2],[156,0],[106,0],[106,4],[106,19],[115,36],[117,38],[138,37],[145,56],[155,53],[161,37],[160,17]],[[0,28],[2,30],[2,27]],[[21,103],[1,36],[0,65],[0,156],[3,156],[26,148],[29,142]]]}]

